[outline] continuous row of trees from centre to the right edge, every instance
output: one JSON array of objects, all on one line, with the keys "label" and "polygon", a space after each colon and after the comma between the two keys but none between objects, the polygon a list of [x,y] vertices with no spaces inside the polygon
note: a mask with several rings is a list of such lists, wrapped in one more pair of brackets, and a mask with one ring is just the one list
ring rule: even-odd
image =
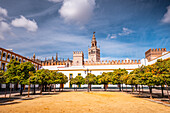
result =
[{"label": "continuous row of trees from centre to the right edge", "polygon": [[168,86],[170,85],[170,59],[159,59],[155,64],[141,66],[129,74],[125,69],[115,69],[113,72],[103,72],[102,75],[98,76],[90,73],[88,73],[85,78],[82,76],[76,76],[71,79],[71,84],[88,84],[88,89],[90,90],[91,84],[104,84],[105,90],[107,89],[108,84],[117,84],[120,91],[121,89],[123,91],[123,84],[125,84],[132,86],[132,92],[134,86],[136,87],[136,90],[139,86],[139,93],[141,92],[140,86],[142,86],[143,92],[143,85],[147,85],[150,91],[150,98],[152,98],[152,88],[160,85],[162,96],[164,96],[164,86],[167,86],[168,93]]}]

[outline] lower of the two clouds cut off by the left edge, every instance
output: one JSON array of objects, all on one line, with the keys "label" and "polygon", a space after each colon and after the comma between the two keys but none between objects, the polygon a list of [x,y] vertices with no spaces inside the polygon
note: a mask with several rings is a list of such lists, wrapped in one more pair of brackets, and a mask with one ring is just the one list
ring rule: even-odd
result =
[{"label": "lower of the two clouds cut off by the left edge", "polygon": [[4,33],[10,32],[11,28],[8,23],[0,22],[0,40],[5,39]]}]

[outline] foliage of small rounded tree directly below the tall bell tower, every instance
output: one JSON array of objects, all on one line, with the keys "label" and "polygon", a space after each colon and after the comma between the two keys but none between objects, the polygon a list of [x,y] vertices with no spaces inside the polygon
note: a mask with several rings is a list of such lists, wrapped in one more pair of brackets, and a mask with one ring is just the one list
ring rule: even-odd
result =
[{"label": "foliage of small rounded tree directly below the tall bell tower", "polygon": [[85,77],[85,83],[86,84],[96,84],[97,77],[94,74],[88,73],[88,75]]}]

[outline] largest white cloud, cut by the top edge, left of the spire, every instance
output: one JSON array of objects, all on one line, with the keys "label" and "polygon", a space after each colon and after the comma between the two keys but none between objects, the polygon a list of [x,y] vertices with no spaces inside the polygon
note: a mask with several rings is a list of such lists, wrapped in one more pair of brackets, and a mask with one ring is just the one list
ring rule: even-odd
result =
[{"label": "largest white cloud, cut by the top edge, left of the spire", "polygon": [[85,24],[93,14],[95,0],[64,0],[59,13],[65,22]]}]

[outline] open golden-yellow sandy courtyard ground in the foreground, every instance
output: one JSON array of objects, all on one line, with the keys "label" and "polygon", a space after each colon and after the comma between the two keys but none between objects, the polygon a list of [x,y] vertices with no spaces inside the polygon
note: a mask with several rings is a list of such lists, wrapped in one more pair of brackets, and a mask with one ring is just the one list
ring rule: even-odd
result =
[{"label": "open golden-yellow sandy courtyard ground in the foreground", "polygon": [[61,92],[0,105],[0,113],[170,113],[170,107],[122,92]]}]

